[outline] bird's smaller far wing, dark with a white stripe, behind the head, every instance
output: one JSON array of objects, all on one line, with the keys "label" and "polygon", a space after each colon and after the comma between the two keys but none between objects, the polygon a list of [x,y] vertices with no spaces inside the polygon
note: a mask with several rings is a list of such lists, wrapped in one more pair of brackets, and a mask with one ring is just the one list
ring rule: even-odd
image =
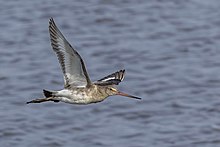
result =
[{"label": "bird's smaller far wing, dark with a white stripe, behind the head", "polygon": [[120,70],[94,82],[94,84],[96,85],[118,85],[121,81],[123,81],[124,77],[125,77],[125,70]]}]

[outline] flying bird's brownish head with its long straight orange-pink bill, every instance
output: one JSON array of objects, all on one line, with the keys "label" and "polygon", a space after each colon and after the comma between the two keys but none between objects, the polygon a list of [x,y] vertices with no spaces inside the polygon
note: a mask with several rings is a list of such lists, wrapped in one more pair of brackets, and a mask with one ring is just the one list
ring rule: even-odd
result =
[{"label": "flying bird's brownish head with its long straight orange-pink bill", "polygon": [[141,99],[139,97],[136,97],[136,96],[133,96],[133,95],[121,92],[121,91],[119,91],[117,88],[115,88],[113,86],[106,87],[106,93],[108,94],[108,96],[121,95],[121,96],[129,97],[129,98]]}]

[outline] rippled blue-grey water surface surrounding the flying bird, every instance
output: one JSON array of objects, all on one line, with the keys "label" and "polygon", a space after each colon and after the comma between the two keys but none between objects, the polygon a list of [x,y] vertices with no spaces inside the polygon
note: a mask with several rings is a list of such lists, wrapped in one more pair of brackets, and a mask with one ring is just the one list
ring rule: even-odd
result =
[{"label": "rippled blue-grey water surface surrounding the flying bird", "polygon": [[[0,2],[1,147],[219,147],[219,0]],[[126,69],[114,96],[47,102],[63,88],[48,34],[53,17],[97,80]]]}]

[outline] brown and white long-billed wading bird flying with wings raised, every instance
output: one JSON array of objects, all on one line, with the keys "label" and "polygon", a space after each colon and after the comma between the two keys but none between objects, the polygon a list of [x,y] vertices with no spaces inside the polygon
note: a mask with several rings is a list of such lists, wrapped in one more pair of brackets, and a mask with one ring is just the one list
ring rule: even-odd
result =
[{"label": "brown and white long-billed wading bird flying with wings raised", "polygon": [[52,17],[49,19],[49,34],[52,49],[63,72],[64,88],[57,91],[43,89],[44,98],[33,99],[27,104],[52,101],[86,105],[101,102],[114,95],[141,99],[121,92],[116,87],[125,77],[124,69],[92,82],[80,54],[66,40]]}]

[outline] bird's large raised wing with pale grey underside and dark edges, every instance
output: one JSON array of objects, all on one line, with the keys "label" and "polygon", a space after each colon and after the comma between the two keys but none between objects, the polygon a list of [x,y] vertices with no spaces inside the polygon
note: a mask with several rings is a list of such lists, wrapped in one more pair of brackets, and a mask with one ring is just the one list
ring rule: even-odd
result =
[{"label": "bird's large raised wing with pale grey underside and dark edges", "polygon": [[51,45],[64,74],[64,87],[86,87],[91,85],[82,58],[59,31],[53,18],[49,21],[49,32]]}]

